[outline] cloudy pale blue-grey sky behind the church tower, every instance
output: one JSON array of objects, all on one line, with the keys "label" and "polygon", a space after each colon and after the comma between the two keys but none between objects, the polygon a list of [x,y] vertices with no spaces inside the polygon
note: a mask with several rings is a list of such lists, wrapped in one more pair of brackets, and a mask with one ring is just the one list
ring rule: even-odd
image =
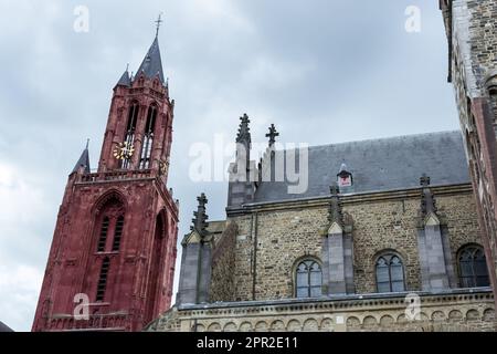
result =
[{"label": "cloudy pale blue-grey sky behind the church tower", "polygon": [[[74,31],[76,6],[88,32]],[[226,200],[225,183],[190,180],[190,147],[232,142],[245,112],[254,142],[271,123],[310,145],[458,128],[437,1],[0,0],[0,321],[14,330],[30,330],[67,174],[86,138],[96,167],[112,88],[161,11],[179,239],[198,194],[211,220]]]}]

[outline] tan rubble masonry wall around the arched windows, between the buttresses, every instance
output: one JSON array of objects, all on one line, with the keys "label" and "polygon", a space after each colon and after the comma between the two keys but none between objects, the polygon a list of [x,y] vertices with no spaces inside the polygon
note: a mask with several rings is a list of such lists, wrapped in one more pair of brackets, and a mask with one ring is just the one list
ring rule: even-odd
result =
[{"label": "tan rubble masonry wall around the arched windows, between the buttresses", "polygon": [[[442,223],[446,225],[454,269],[456,252],[467,243],[479,243],[475,201],[464,192],[435,191]],[[393,249],[403,259],[408,291],[421,290],[417,253],[420,196],[387,200],[343,199],[342,209],[353,219],[356,293],[373,293],[378,254]],[[294,298],[294,267],[304,257],[321,259],[322,230],[327,229],[327,206],[258,211],[233,217],[239,225],[235,260],[235,300]],[[257,249],[254,250],[255,238]],[[254,258],[255,253],[255,258]],[[256,263],[255,299],[253,264]]]}]

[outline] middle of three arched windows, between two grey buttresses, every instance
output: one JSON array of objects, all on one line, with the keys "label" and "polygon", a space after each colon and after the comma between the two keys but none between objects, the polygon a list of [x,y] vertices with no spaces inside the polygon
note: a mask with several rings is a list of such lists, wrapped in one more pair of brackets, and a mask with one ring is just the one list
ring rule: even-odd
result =
[{"label": "middle of three arched windows, between two grey buttresses", "polygon": [[387,253],[378,258],[376,272],[378,292],[405,291],[404,266],[395,253]]}]

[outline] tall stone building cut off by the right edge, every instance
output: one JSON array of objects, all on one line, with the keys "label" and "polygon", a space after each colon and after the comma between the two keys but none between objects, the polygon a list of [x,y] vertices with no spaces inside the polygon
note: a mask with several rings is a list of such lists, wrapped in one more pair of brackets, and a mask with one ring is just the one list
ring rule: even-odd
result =
[{"label": "tall stone building cut off by the right edge", "polygon": [[497,1],[440,0],[483,241],[497,293]]}]

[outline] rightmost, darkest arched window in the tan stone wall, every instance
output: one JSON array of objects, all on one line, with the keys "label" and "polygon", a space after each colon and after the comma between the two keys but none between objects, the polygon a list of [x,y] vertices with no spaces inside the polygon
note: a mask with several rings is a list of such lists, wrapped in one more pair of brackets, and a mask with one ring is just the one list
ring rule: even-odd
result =
[{"label": "rightmost, darkest arched window in the tan stone wall", "polygon": [[459,282],[462,288],[488,287],[487,261],[482,247],[466,246],[458,252]]}]

